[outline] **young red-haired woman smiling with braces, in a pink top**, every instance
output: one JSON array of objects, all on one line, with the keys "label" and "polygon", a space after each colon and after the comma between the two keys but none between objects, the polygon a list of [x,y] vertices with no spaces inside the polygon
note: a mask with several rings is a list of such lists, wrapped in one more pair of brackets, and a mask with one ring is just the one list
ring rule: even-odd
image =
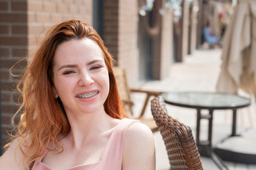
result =
[{"label": "young red-haired woman smiling with braces, in a pink top", "polygon": [[88,24],[52,27],[17,86],[20,122],[0,169],[155,169],[152,132],[124,118],[112,61]]}]

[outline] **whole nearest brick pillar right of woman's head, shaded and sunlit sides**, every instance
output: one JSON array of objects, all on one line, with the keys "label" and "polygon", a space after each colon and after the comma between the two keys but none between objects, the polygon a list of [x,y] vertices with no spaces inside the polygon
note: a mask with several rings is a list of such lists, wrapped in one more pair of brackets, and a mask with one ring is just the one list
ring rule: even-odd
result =
[{"label": "whole nearest brick pillar right of woman's head, shaded and sunlit sides", "polygon": [[138,81],[137,34],[137,1],[104,1],[104,43],[116,66],[125,68],[130,86]]}]

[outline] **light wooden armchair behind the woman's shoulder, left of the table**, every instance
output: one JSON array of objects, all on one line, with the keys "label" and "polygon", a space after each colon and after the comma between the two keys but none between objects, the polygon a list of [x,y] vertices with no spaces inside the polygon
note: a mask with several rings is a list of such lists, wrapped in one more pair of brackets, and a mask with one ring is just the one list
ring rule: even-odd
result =
[{"label": "light wooden armchair behind the woman's shoulder, left of the table", "polygon": [[[162,92],[149,91],[149,90],[143,90],[143,89],[131,89],[131,88],[129,88],[128,83],[127,83],[125,70],[123,68],[114,67],[113,71],[115,73],[116,83],[118,86],[118,91],[120,93],[120,97],[121,97],[123,105],[125,107],[125,111],[129,115],[129,117],[132,119],[140,120],[140,122],[147,125],[152,130],[152,132],[156,132],[158,129],[157,129],[157,125],[156,125],[154,119],[153,118],[145,118],[144,113],[145,113],[145,110],[148,105],[150,97],[152,97],[152,96],[156,97],[156,96],[160,95]],[[141,112],[140,112],[139,116],[136,116],[136,117],[134,116],[133,110],[132,110],[132,105],[134,105],[134,103],[132,102],[132,99],[131,99],[131,93],[145,93],[147,95],[147,97],[145,98],[143,107],[141,109]]]}]

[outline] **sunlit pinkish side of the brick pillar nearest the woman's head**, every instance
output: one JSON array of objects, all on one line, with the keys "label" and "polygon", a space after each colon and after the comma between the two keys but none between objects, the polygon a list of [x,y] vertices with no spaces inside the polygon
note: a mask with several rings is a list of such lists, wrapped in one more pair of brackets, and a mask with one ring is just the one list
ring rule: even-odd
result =
[{"label": "sunlit pinkish side of the brick pillar nearest the woman's head", "polygon": [[118,66],[125,68],[130,87],[138,82],[138,1],[120,0],[118,19]]}]

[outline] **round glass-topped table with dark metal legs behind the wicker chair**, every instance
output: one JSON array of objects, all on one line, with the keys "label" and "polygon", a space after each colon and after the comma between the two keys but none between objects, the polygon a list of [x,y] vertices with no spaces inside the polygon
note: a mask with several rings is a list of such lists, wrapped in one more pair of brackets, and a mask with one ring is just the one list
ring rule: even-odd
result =
[{"label": "round glass-topped table with dark metal legs behind the wicker chair", "polygon": [[[201,155],[209,156],[220,169],[227,169],[221,158],[212,150],[212,119],[213,111],[220,109],[232,109],[232,134],[236,136],[236,114],[237,109],[247,107],[251,104],[249,98],[239,97],[230,93],[204,93],[204,92],[173,92],[161,95],[166,104],[179,107],[188,107],[197,110],[196,119],[196,144]],[[201,114],[202,109],[209,110],[209,114]],[[208,139],[200,141],[200,121],[208,120]]]}]

